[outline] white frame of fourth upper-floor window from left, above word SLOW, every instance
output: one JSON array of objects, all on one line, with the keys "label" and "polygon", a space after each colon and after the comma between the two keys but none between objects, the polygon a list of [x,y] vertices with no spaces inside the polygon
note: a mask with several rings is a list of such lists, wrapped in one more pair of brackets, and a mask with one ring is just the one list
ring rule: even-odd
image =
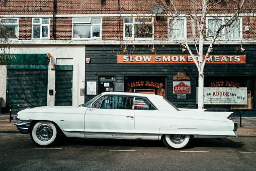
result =
[{"label": "white frame of fourth upper-floor window from left, above word SLOW", "polygon": [[[125,23],[125,18],[132,18],[132,23]],[[134,37],[134,25],[135,24],[140,24],[141,22],[136,22],[136,19],[137,18],[147,18],[147,17],[124,17],[123,19],[123,38],[124,40],[127,40],[127,39],[135,39],[135,40],[153,40],[154,39],[154,17],[148,17],[148,18],[151,18],[151,22],[145,22],[145,24],[152,24],[152,37],[148,37],[148,38],[135,38]],[[131,25],[132,26],[132,36],[131,37],[126,37],[125,36],[125,25]]]}]

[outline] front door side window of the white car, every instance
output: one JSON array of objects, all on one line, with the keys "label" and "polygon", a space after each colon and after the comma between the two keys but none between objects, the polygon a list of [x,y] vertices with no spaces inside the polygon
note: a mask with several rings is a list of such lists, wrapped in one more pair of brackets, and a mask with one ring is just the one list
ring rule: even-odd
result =
[{"label": "front door side window of the white car", "polygon": [[102,99],[101,109],[132,109],[133,97],[105,96]]}]

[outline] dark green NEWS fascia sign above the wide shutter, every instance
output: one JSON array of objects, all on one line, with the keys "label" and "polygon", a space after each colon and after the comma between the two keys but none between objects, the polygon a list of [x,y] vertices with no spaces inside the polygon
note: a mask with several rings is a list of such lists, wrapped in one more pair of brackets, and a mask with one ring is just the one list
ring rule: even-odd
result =
[{"label": "dark green NEWS fascia sign above the wide shutter", "polygon": [[48,64],[47,54],[0,54],[0,65]]}]

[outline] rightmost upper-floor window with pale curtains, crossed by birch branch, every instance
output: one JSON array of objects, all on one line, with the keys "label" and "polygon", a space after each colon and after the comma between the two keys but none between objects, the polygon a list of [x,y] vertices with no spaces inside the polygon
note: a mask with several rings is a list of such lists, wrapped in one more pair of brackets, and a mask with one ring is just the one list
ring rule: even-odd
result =
[{"label": "rightmost upper-floor window with pale curtains, crossed by birch branch", "polygon": [[[207,37],[213,37],[220,26],[225,24],[228,21],[227,18],[220,17],[220,18],[208,18],[207,19]],[[231,26],[225,27],[223,30],[220,31],[219,37],[220,38],[241,38],[241,19],[236,19]]]}]

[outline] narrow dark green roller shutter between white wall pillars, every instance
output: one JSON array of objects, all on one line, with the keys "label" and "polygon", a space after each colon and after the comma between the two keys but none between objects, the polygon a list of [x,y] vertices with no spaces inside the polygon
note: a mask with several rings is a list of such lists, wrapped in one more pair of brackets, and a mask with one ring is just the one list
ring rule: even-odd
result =
[{"label": "narrow dark green roller shutter between white wall pillars", "polygon": [[55,106],[72,106],[72,70],[56,70]]}]

